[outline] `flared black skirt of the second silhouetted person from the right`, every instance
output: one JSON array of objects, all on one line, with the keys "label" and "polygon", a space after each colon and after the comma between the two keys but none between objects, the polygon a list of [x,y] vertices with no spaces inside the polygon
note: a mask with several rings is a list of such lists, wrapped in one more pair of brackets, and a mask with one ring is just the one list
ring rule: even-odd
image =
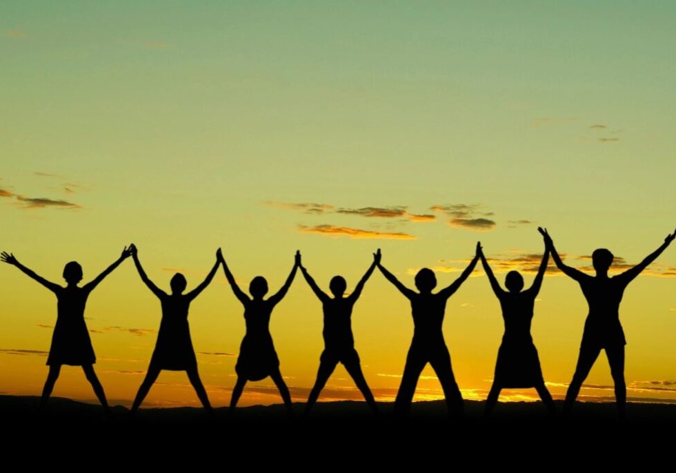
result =
[{"label": "flared black skirt of the second silhouetted person from the right", "polygon": [[497,352],[494,383],[501,388],[533,388],[544,384],[532,341],[502,341]]}]

